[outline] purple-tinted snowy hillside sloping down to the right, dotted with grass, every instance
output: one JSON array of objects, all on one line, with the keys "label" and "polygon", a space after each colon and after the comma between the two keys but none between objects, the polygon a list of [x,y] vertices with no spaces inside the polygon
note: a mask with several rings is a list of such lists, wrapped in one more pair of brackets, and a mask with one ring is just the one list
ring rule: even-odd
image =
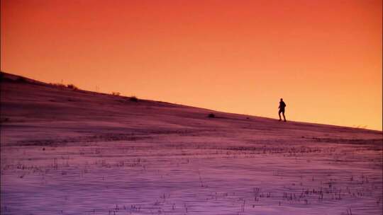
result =
[{"label": "purple-tinted snowy hillside sloping down to the right, dotted with grass", "polygon": [[1,214],[355,215],[382,205],[382,132],[1,81]]}]

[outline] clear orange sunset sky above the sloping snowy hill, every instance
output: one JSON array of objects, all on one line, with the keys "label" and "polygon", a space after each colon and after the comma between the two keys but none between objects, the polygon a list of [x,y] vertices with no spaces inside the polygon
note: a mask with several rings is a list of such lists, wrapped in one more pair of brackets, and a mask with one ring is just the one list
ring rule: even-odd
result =
[{"label": "clear orange sunset sky above the sloping snowy hill", "polygon": [[382,1],[1,1],[1,70],[382,130]]}]

